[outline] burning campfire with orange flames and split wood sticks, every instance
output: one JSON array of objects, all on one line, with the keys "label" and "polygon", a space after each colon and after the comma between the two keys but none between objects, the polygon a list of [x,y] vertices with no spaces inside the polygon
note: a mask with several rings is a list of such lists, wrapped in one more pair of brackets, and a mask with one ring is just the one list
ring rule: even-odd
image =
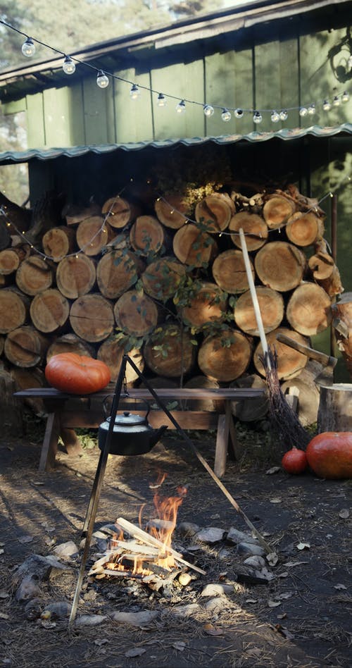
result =
[{"label": "burning campfire with orange flames and split wood sticks", "polygon": [[[165,475],[158,481],[158,488],[165,480]],[[205,571],[187,562],[180,552],[172,548],[172,534],[177,522],[177,511],[187,494],[187,489],[179,487],[176,494],[163,497],[156,492],[153,506],[156,517],[149,519],[142,528],[142,514],[145,505],[139,511],[139,526],[123,517],[115,522],[108,550],[94,562],[89,576],[101,579],[106,576],[134,577],[151,584],[160,583],[160,579],[177,576],[182,569],[193,569],[201,574]]]}]

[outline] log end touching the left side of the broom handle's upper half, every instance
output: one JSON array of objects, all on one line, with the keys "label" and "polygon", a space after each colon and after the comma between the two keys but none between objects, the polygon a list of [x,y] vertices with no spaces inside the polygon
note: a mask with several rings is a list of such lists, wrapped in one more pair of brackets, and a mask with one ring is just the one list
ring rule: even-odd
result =
[{"label": "log end touching the left side of the broom handle's upper half", "polygon": [[[251,260],[249,264],[254,280],[255,272]],[[220,253],[213,261],[212,272],[215,283],[225,292],[230,292],[230,295],[249,290],[244,257],[240,250],[230,249]]]}]

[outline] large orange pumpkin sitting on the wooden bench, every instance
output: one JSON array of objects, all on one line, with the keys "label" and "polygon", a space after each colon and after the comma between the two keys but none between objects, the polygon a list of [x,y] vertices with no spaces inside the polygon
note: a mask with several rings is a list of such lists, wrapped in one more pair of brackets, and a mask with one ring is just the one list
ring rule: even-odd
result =
[{"label": "large orange pumpkin sitting on the wooden bench", "polygon": [[111,381],[111,373],[99,359],[75,352],[61,352],[49,359],[45,378],[53,388],[62,392],[89,395],[105,388]]}]

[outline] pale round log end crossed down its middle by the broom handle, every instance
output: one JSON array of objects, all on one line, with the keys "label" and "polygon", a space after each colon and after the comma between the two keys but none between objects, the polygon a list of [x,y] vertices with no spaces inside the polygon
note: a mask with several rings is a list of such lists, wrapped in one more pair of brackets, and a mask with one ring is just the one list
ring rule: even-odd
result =
[{"label": "pale round log end crossed down its middle by the broom handle", "polygon": [[[284,317],[284,299],[279,292],[272,290],[271,287],[256,287],[260,314],[263,320],[265,333],[271,332],[279,327]],[[253,307],[251,291],[244,292],[237,299],[234,307],[234,320],[237,327],[246,334],[259,336],[256,312]]]}]

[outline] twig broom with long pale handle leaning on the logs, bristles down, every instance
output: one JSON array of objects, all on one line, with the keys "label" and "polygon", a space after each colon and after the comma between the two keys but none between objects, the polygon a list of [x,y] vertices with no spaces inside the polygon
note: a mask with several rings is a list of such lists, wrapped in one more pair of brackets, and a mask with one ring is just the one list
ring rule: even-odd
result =
[{"label": "twig broom with long pale handle leaning on the logs, bristles down", "polygon": [[260,342],[263,348],[263,357],[261,359],[263,361],[265,378],[268,385],[270,426],[283,452],[287,452],[291,447],[298,447],[301,450],[304,450],[311,437],[301,425],[294,410],[287,403],[280,387],[279,377],[277,376],[277,353],[275,350],[270,350],[268,341],[265,337],[263,320],[260,313],[256,288],[254,287],[251,264],[249,262],[246,239],[242,228],[239,230],[239,238],[241,240],[244,265],[246,267],[249,289],[251,290]]}]

